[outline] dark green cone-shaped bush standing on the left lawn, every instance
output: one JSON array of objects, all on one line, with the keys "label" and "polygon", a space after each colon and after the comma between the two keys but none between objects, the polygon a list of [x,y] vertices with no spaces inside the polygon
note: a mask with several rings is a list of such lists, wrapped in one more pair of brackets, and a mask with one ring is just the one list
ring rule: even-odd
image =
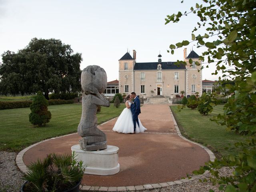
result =
[{"label": "dark green cone-shaped bush standing on the left lawn", "polygon": [[30,105],[29,121],[33,125],[42,126],[50,121],[52,114],[48,111],[47,106],[48,100],[46,100],[41,91],[38,91]]}]

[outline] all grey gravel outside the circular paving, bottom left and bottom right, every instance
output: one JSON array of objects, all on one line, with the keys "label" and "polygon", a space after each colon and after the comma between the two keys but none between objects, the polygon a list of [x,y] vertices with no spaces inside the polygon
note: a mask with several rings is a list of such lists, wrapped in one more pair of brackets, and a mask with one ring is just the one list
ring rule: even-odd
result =
[{"label": "all grey gravel outside the circular paving, bottom left and bottom right", "polygon": [[[23,174],[18,170],[15,163],[16,153],[0,151],[0,192],[18,192],[24,180]],[[233,170],[223,167],[219,170],[221,175],[230,175]],[[211,174],[201,177],[207,178]],[[213,186],[210,182],[202,183],[198,179],[191,182],[173,185],[155,190],[144,190],[142,192],[208,192],[209,189],[219,192],[218,186]]]}]

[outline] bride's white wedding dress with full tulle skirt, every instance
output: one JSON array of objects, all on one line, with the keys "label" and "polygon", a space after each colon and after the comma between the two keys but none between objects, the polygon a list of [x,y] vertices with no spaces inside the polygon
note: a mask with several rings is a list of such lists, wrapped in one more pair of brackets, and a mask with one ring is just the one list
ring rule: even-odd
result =
[{"label": "bride's white wedding dress with full tulle skirt", "polygon": [[[131,106],[131,102],[128,102],[129,106]],[[138,124],[136,124],[136,133],[140,133],[140,132],[144,132],[145,130],[147,130],[142,123],[140,122],[139,119],[139,124],[140,127],[138,126]],[[122,111],[122,113],[120,114],[120,116],[118,117],[116,124],[114,125],[113,131],[116,131],[118,133],[133,133],[133,120],[132,120],[132,111],[129,108],[124,108],[124,110]]]}]

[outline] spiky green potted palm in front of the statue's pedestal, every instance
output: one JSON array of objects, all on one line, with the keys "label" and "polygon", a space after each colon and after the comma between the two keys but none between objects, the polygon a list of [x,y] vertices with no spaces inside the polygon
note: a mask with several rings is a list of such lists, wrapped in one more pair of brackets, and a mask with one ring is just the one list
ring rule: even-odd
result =
[{"label": "spiky green potted palm in front of the statue's pedestal", "polygon": [[49,154],[28,166],[20,192],[79,192],[84,175],[83,162],[70,154]]}]

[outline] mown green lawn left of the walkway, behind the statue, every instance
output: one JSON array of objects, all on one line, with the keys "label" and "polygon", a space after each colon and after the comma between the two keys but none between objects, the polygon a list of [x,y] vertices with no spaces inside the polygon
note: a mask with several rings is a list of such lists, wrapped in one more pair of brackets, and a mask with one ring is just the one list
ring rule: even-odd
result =
[{"label": "mown green lawn left of the walkway, behind the statue", "polygon": [[[124,108],[124,104],[119,108],[113,104],[102,107],[97,114],[98,124],[119,116]],[[29,122],[30,108],[0,110],[0,150],[20,151],[36,142],[77,131],[81,104],[51,105],[48,110],[52,119],[44,127],[35,127]]]}]

